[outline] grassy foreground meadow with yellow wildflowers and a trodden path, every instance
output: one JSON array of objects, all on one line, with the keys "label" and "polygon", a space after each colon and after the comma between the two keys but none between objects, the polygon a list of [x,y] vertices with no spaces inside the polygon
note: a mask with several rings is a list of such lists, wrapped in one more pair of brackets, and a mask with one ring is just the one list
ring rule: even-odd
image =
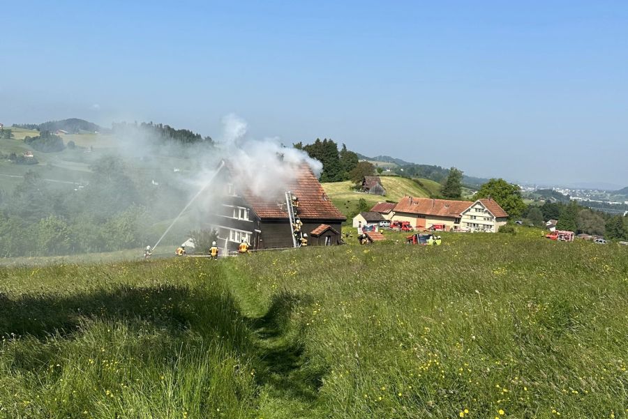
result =
[{"label": "grassy foreground meadow with yellow wildflowers and a trodden path", "polygon": [[0,417],[625,417],[628,249],[525,231],[0,268]]}]

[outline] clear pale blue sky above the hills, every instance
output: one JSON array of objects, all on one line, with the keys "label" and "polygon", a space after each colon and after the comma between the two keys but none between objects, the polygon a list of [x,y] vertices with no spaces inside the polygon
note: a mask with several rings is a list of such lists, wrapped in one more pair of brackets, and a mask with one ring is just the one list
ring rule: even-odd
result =
[{"label": "clear pale blue sky above the hills", "polygon": [[6,125],[216,137],[237,114],[284,144],[628,185],[626,1],[13,1],[2,16]]}]

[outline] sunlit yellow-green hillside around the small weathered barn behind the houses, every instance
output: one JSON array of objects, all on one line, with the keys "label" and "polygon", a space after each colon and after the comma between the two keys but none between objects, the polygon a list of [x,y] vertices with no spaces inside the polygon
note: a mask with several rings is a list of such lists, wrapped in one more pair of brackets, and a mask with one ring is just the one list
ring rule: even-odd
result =
[{"label": "sunlit yellow-green hillside around the small weathered barn behind the houses", "polygon": [[364,199],[368,207],[371,208],[377,202],[398,201],[404,195],[412,195],[414,197],[430,196],[430,192],[426,188],[421,188],[421,186],[410,179],[398,176],[381,176],[381,178],[383,186],[387,190],[385,197],[355,192],[352,190],[353,183],[350,181],[322,183],[322,187],[331,198],[331,201],[334,202],[334,205],[345,215],[357,213],[358,201],[360,199]]}]

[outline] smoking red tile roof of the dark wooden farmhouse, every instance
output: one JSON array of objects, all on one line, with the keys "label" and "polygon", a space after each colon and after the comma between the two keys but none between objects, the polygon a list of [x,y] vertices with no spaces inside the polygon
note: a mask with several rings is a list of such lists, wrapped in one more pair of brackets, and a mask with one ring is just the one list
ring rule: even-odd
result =
[{"label": "smoking red tile roof of the dark wooden farmhouse", "polygon": [[[227,163],[225,166],[232,171],[232,165]],[[338,211],[338,208],[331,202],[307,163],[294,165],[293,169],[295,176],[292,181],[285,185],[285,188],[290,190],[293,196],[299,198],[298,216],[301,220],[347,220],[345,215]],[[258,217],[262,219],[288,218],[283,193],[280,192],[274,197],[260,197],[251,190],[239,192]]]}]

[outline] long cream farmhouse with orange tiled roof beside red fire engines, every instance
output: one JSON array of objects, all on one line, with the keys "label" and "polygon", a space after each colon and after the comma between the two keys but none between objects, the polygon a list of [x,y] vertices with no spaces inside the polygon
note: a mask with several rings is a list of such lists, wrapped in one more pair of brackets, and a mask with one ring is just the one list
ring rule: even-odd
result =
[{"label": "long cream farmhouse with orange tiled roof beside red fire engines", "polygon": [[492,199],[450,201],[403,197],[394,208],[392,221],[408,221],[416,229],[442,225],[446,230],[496,232],[508,214]]}]

